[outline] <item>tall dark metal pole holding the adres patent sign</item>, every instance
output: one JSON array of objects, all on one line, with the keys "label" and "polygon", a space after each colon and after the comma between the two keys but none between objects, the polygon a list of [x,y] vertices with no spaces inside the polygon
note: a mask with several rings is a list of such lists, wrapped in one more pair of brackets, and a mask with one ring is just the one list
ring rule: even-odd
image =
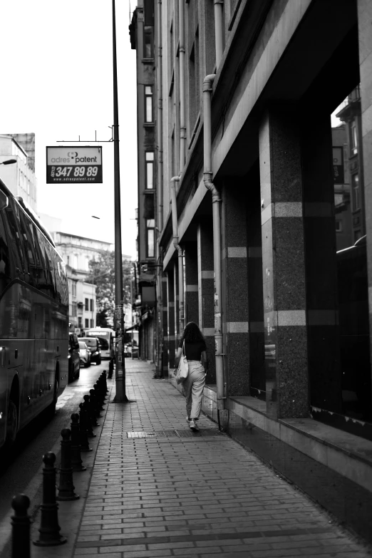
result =
[{"label": "tall dark metal pole holding the adres patent sign", "polygon": [[121,212],[120,212],[120,156],[119,156],[119,113],[118,113],[118,71],[116,63],[115,0],[113,0],[113,144],[114,144],[114,204],[115,204],[115,403],[128,401],[125,395],[124,358],[124,314],[123,314],[123,259],[121,253]]}]

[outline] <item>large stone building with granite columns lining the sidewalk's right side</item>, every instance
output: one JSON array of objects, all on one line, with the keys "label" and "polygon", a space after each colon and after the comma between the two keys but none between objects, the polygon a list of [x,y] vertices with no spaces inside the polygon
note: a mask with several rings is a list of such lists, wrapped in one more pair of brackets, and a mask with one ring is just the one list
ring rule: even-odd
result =
[{"label": "large stone building with granite columns lining the sidewalk's right side", "polygon": [[371,537],[372,4],[140,9],[155,16],[157,373],[174,382],[197,321],[205,413]]}]

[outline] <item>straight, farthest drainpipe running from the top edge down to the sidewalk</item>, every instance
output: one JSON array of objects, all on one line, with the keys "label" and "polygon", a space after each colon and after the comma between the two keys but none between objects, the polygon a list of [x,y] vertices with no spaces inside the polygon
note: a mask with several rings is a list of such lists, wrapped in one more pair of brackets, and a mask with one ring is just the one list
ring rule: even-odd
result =
[{"label": "straight, farthest drainpipe running from the top edge down to the sidewalk", "polygon": [[[160,233],[162,232],[162,0],[157,0],[157,264],[160,264]],[[162,268],[156,268],[157,297],[157,375],[162,377]]]}]

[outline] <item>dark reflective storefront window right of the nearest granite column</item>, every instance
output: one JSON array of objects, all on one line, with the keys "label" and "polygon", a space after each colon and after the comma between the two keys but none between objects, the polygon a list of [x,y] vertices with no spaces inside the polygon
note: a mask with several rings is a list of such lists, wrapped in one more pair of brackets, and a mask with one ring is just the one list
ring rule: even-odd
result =
[{"label": "dark reflective storefront window right of the nearest granite column", "polygon": [[[369,347],[366,215],[361,182],[361,98],[354,87],[332,115],[332,138],[343,138],[343,183],[334,184],[336,216],[336,279],[339,324],[339,413],[372,420]],[[328,409],[331,410],[331,409]],[[347,423],[346,423],[347,424]]]}]

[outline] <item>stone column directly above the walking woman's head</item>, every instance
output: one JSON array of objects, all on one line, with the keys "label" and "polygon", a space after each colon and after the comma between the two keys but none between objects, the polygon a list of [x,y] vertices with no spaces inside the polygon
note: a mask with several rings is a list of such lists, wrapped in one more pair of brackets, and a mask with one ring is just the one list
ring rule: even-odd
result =
[{"label": "stone column directly above the walking woman's head", "polygon": [[199,322],[197,286],[197,243],[185,244],[185,324]]}]

